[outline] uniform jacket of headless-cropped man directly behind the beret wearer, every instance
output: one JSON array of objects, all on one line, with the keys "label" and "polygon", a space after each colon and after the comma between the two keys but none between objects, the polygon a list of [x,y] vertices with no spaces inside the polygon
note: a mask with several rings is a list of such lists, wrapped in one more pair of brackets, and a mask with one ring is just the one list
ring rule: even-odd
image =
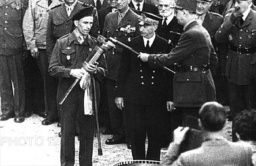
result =
[{"label": "uniform jacket of headless-cropped man directly behind the beret wearer", "polygon": [[[69,34],[70,31],[72,31],[73,21],[71,19],[77,11],[83,8],[84,6],[82,3],[77,1],[73,11],[70,14],[70,17],[67,15],[67,10],[64,3],[62,3],[60,6],[52,8],[49,11],[46,37],[46,51],[48,57],[52,54],[56,40],[66,34]],[[91,28],[90,34],[93,37],[96,37],[99,34],[99,20],[96,8],[93,9],[93,26]]]}]

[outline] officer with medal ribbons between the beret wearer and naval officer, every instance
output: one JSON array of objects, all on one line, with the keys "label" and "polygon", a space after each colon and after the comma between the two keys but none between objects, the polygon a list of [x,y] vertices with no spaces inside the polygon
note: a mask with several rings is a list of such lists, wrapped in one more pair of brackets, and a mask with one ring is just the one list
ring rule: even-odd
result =
[{"label": "officer with medal ribbons between the beret wearer and naval officer", "polygon": [[[126,42],[128,38],[139,35],[137,30],[138,15],[132,11],[128,4],[131,0],[115,0],[118,11],[109,13],[106,16],[102,35],[106,38],[113,37],[120,42]],[[116,78],[121,62],[123,47],[116,45],[116,49],[105,52],[108,66],[108,75],[106,77],[108,109],[110,113],[111,127],[113,137],[106,140],[106,144],[124,143],[124,124],[122,112],[115,105],[114,89]]]}]

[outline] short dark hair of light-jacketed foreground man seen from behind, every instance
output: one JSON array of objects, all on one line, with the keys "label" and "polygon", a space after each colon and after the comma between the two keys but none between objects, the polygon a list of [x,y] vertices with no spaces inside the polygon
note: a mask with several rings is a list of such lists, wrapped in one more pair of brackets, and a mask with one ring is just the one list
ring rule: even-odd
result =
[{"label": "short dark hair of light-jacketed foreground man seen from behind", "polygon": [[217,132],[223,129],[227,120],[227,113],[220,103],[207,102],[199,110],[198,117],[204,129]]}]

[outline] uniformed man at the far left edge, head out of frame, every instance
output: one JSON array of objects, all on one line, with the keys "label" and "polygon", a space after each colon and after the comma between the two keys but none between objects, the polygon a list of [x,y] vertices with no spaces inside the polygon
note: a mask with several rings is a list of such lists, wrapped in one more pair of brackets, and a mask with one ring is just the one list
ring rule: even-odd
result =
[{"label": "uniformed man at the far left edge, head out of frame", "polygon": [[27,1],[0,0],[0,95],[3,113],[0,120],[15,117],[15,122],[24,121],[25,83],[22,56],[26,46],[22,21],[27,6],[25,2]]}]

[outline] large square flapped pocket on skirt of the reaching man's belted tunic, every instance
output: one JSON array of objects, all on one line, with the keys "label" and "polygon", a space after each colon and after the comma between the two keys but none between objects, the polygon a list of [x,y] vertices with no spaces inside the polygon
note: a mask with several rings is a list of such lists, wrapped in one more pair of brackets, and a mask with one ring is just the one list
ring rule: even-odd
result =
[{"label": "large square flapped pocket on skirt of the reaching man's belted tunic", "polygon": [[204,82],[198,72],[175,74],[173,89],[177,103],[202,103],[207,98]]}]

